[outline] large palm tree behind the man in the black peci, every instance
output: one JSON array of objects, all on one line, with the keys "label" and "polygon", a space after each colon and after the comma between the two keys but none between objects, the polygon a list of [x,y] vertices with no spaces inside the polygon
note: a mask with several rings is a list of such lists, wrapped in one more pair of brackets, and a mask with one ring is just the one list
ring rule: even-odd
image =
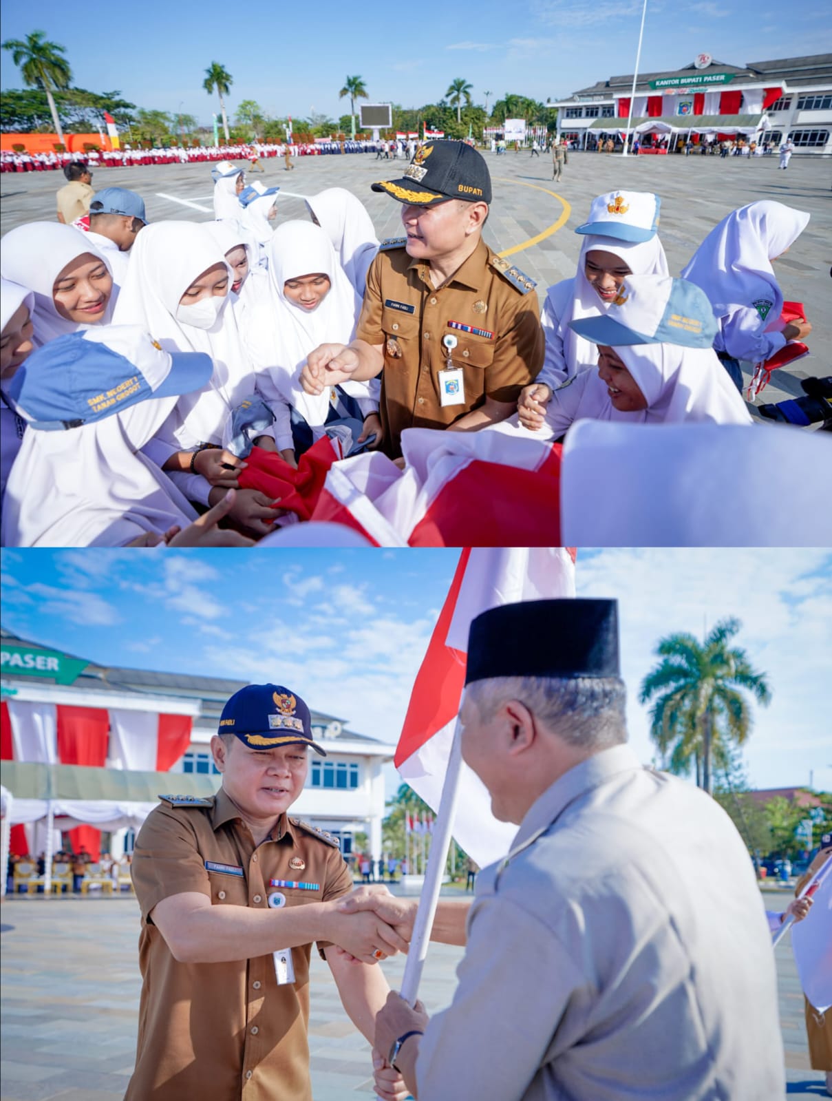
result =
[{"label": "large palm tree behind the man in the black peci", "polygon": [[[747,741],[752,713],[742,690],[758,704],[771,699],[766,677],[755,673],[744,650],[727,643],[740,631],[736,619],[718,623],[699,643],[692,634],[663,639],[656,653],[665,658],[642,682],[639,700],[650,708],[650,738],[670,772],[687,773],[696,763],[697,785],[711,794],[712,760]],[[669,757],[669,761],[668,761]]]}]

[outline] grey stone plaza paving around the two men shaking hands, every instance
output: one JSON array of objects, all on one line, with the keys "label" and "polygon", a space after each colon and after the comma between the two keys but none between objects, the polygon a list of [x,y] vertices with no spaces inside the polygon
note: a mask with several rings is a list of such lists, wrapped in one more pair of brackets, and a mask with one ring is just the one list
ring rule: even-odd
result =
[{"label": "grey stone plaza paving around the two men shaking hands", "polygon": [[[790,897],[790,892],[767,892],[766,906],[782,909]],[[3,901],[0,927],[1,1101],[121,1101],[133,1067],[139,1012],[135,900],[18,896]],[[503,949],[511,950],[511,938]],[[429,1013],[450,1002],[461,955],[460,948],[431,945],[419,990]],[[809,1069],[803,999],[788,935],[776,956],[787,1094],[825,1097],[823,1075]],[[381,966],[397,989],[404,957]],[[372,1097],[369,1046],[343,1013],[329,968],[316,952],[310,981],[315,1101]],[[748,1018],[753,1015],[749,1004]]]}]

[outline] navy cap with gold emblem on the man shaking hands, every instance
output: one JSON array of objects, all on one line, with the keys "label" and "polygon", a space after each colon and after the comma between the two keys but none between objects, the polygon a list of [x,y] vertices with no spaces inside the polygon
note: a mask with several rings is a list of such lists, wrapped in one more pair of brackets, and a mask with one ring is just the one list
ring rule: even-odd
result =
[{"label": "navy cap with gold emblem on the man shaking hands", "polygon": [[219,734],[233,734],[250,750],[273,750],[278,745],[311,745],[309,708],[283,685],[247,685],[222,708]]}]

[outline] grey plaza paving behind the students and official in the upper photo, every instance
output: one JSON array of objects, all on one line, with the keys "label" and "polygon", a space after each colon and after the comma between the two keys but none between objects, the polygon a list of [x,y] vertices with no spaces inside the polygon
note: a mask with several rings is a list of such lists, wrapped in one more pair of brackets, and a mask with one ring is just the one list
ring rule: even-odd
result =
[{"label": "grey plaza paving behind the students and official in the upper photo", "polygon": [[[589,214],[592,196],[615,187],[654,190],[661,197],[661,240],[670,271],[678,274],[705,235],[731,210],[755,199],[777,199],[812,216],[807,230],[777,262],[787,301],[802,302],[813,326],[812,356],[776,372],[763,401],[802,394],[799,379],[825,375],[832,369],[832,190],[825,157],[793,156],[786,172],[776,156],[720,160],[713,156],[639,156],[571,153],[563,178],[551,182],[551,163],[528,151],[495,156],[488,153],[494,201],[485,240],[546,287],[574,274],[581,238],[573,230]],[[376,161],[375,154],[304,156],[286,172],[283,161],[263,161],[264,175],[252,178],[282,188],[281,219],[308,217],[305,196],[325,187],[347,187],[366,206],[381,239],[401,235],[401,206],[370,190],[375,179],[392,179],[406,167],[403,160]],[[99,168],[94,186],[130,187],[144,198],[150,220],[212,218],[210,164]],[[53,220],[61,173],[4,174],[0,177],[0,232],[36,219]]]}]

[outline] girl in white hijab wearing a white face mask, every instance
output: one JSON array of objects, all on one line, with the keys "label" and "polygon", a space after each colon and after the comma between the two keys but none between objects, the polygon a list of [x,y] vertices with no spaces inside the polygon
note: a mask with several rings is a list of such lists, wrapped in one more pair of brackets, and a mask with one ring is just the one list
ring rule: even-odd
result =
[{"label": "girl in white hijab wearing a white face mask", "polygon": [[[184,394],[145,446],[150,456],[200,505],[214,505],[237,488],[244,466],[225,450],[234,407],[254,390],[251,360],[232,309],[227,309],[233,273],[205,226],[160,221],[142,230],[119,297],[116,323],[140,325],[166,351],[201,351],[214,373],[197,392]],[[241,490],[232,520],[259,534],[271,527],[271,502]]]}]

